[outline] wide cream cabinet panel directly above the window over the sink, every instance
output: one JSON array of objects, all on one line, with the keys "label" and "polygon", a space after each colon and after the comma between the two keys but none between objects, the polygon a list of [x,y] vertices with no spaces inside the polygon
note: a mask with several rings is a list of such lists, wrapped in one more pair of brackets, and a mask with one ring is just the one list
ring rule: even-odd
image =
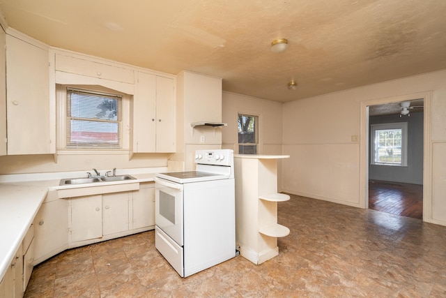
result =
[{"label": "wide cream cabinet panel directly above the window over the sink", "polygon": [[75,73],[78,75],[134,84],[133,70],[63,54],[56,54],[55,68],[66,73]]}]

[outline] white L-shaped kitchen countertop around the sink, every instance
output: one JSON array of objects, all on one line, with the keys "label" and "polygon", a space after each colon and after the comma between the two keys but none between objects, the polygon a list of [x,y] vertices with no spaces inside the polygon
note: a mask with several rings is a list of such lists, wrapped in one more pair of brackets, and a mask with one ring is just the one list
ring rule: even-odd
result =
[{"label": "white L-shaped kitchen countertop around the sink", "polygon": [[[162,169],[157,172],[166,172],[166,170]],[[36,217],[48,191],[98,185],[144,183],[153,181],[155,177],[155,172],[130,172],[130,174],[136,179],[68,186],[59,186],[59,181],[67,178],[63,176],[58,179],[47,180],[36,180],[31,177],[29,181],[16,181],[14,177],[1,177],[0,182],[3,183],[0,183],[0,225],[3,228],[0,229],[0,281],[5,276],[15,252],[22,244],[24,236]],[[54,175],[49,177],[52,176]]]}]

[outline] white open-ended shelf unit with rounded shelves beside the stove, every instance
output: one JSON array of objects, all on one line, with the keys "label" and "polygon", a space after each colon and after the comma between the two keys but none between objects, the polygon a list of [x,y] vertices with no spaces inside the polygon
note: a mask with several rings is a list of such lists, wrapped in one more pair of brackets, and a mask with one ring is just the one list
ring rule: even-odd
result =
[{"label": "white open-ended shelf unit with rounded shelves beside the stove", "polygon": [[289,228],[277,223],[277,202],[289,195],[277,193],[277,159],[289,156],[234,156],[236,178],[236,244],[240,255],[259,265],[279,254],[277,237]]}]

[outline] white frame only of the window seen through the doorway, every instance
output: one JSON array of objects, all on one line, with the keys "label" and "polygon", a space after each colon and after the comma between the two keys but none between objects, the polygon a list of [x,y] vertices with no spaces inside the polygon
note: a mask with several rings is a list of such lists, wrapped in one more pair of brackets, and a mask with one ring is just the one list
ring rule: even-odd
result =
[{"label": "white frame only of the window seen through the doorway", "polygon": [[[401,164],[399,163],[382,163],[376,161],[377,158],[377,144],[376,131],[387,131],[393,129],[401,129]],[[408,124],[407,122],[394,122],[386,124],[371,124],[370,126],[370,164],[371,165],[386,165],[393,167],[407,167],[407,152],[408,152]]]}]

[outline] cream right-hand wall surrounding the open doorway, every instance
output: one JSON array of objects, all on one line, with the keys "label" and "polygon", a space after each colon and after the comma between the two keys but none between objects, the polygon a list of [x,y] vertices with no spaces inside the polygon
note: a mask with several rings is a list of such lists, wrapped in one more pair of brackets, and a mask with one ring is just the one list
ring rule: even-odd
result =
[{"label": "cream right-hand wall surrounding the open doorway", "polygon": [[420,96],[424,221],[446,225],[446,70],[284,103],[284,191],[365,207],[367,105]]}]

